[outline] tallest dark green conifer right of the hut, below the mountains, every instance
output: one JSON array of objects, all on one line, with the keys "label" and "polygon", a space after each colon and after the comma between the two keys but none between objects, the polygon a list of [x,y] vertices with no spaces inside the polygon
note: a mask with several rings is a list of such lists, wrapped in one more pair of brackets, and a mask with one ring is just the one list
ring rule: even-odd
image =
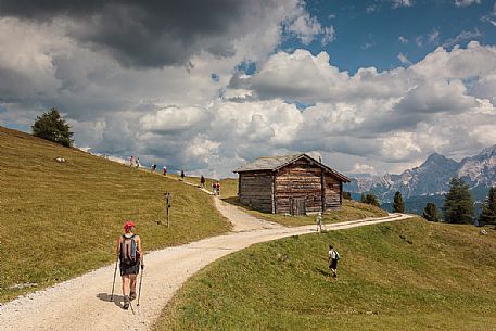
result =
[{"label": "tallest dark green conifer right of the hut, below the mountains", "polygon": [[473,221],[473,200],[469,186],[458,177],[449,181],[449,192],[444,200],[444,219],[447,222],[471,224]]}]

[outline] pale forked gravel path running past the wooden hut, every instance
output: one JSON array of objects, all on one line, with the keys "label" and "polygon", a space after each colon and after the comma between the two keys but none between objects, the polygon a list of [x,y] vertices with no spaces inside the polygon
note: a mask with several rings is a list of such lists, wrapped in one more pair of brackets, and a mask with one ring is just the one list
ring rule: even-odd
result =
[{"label": "pale forked gravel path running past the wooden hut", "polygon": [[[1,330],[148,330],[182,283],[209,263],[254,243],[315,232],[315,226],[285,228],[256,219],[214,198],[234,232],[145,255],[140,307],[122,309],[120,280],[110,302],[115,265],[91,271],[0,307]],[[391,215],[327,225],[339,230],[408,218]]]}]

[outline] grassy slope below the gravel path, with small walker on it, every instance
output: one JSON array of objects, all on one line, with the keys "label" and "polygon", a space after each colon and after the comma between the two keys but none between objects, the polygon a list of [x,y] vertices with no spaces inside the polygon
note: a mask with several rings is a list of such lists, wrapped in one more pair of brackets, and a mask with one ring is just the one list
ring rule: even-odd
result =
[{"label": "grassy slope below the gravel path, with small walker on it", "polygon": [[190,279],[156,330],[496,330],[487,230],[416,218],[257,244]]}]

